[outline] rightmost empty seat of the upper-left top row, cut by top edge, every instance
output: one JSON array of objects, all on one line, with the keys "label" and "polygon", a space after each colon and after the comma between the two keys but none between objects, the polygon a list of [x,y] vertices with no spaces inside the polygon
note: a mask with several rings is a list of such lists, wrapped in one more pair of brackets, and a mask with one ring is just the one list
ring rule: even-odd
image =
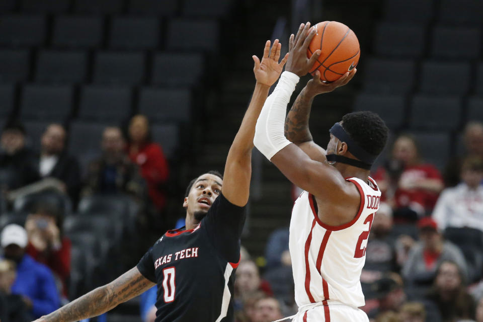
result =
[{"label": "rightmost empty seat of the upper-left top row, cut by top edge", "polygon": [[224,17],[228,15],[232,0],[183,0],[182,15],[184,17]]}]

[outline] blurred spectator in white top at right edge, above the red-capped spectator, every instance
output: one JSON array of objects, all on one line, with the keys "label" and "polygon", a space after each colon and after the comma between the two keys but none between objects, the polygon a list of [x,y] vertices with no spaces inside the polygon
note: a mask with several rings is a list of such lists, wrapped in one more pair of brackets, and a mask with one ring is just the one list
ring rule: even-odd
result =
[{"label": "blurred spectator in white top at right edge, above the red-capped spectator", "polygon": [[443,190],[433,218],[440,229],[466,226],[483,231],[483,158],[465,158],[461,180],[456,187]]}]

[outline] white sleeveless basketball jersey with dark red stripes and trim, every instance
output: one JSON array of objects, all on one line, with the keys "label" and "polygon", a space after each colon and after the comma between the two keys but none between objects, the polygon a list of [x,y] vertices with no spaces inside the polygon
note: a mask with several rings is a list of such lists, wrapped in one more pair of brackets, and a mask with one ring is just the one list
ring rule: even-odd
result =
[{"label": "white sleeveless basketball jersey with dark red stripes and trim", "polygon": [[344,225],[321,222],[315,198],[306,191],[293,206],[289,245],[299,307],[331,300],[353,307],[365,304],[360,276],[381,192],[372,178],[368,183],[357,178],[347,181],[356,185],[361,204],[354,219]]}]

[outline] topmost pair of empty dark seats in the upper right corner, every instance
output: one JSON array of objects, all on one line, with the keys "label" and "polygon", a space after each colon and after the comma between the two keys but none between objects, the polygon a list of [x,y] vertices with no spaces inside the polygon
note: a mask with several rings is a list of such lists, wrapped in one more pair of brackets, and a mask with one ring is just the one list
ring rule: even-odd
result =
[{"label": "topmost pair of empty dark seats in the upper right corner", "polygon": [[436,21],[454,25],[479,25],[483,23],[483,2],[478,0],[441,0],[436,10],[436,0],[386,0],[386,21],[428,23]]}]

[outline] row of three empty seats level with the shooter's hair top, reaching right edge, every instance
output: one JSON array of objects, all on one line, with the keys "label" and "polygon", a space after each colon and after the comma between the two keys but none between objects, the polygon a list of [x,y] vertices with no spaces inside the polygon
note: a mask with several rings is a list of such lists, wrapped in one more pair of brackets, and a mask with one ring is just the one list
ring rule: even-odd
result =
[{"label": "row of three empty seats level with the shooter's hair top, reaching right edge", "polygon": [[[409,110],[406,108],[408,103]],[[467,100],[466,109],[463,106],[459,97],[427,95],[408,99],[404,95],[359,94],[354,102],[354,110],[379,114],[389,128],[409,126],[411,129],[436,131],[460,128],[464,123],[463,116],[466,120],[483,121],[483,98],[471,97]],[[405,124],[405,120],[409,124]]]}]

